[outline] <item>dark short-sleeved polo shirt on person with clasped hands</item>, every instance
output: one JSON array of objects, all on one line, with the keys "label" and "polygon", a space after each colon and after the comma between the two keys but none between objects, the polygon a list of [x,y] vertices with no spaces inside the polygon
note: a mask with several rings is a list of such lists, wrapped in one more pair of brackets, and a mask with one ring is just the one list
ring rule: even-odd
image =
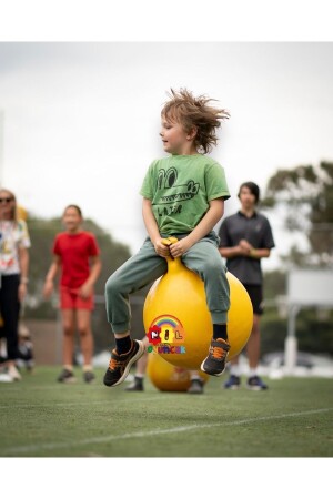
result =
[{"label": "dark short-sleeved polo shirt on person with clasped hands", "polygon": [[[250,218],[241,212],[228,216],[222,221],[219,236],[220,247],[238,246],[241,240],[246,240],[255,249],[275,246],[269,220],[258,212]],[[226,268],[243,284],[262,285],[261,258],[228,258]]]}]

